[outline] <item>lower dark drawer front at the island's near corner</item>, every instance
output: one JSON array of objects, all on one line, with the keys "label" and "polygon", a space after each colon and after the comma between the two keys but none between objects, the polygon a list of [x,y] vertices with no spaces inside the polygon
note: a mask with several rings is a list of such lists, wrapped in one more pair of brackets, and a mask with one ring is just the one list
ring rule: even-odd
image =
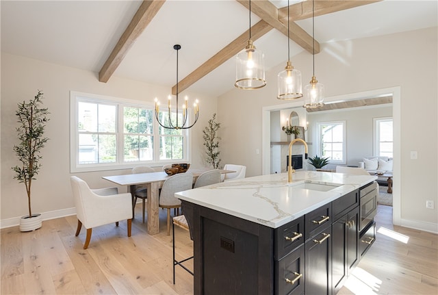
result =
[{"label": "lower dark drawer front at the island's near corner", "polygon": [[304,293],[304,245],[275,261],[275,294],[292,295]]}]

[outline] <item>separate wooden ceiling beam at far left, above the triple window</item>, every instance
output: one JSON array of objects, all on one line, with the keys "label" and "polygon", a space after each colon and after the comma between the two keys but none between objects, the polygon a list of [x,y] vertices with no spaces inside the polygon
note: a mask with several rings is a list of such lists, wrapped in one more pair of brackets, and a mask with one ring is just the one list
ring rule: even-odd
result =
[{"label": "separate wooden ceiling beam at far left, above the triple window", "polygon": [[116,71],[116,68],[120,65],[120,62],[125,58],[132,44],[136,42],[137,38],[142,34],[142,31],[151,23],[154,16],[157,14],[165,0],[144,0],[138,8],[136,14],[133,16],[131,23],[125,29],[118,40],[116,46],[112,50],[110,57],[106,60],[105,64],[99,71],[99,81],[106,83],[112,74]]}]

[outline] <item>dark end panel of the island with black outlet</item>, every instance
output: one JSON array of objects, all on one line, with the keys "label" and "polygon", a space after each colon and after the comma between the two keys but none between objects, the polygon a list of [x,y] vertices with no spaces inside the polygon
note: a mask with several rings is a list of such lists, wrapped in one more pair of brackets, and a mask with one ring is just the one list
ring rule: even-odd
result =
[{"label": "dark end panel of the island with black outlet", "polygon": [[194,295],[274,294],[270,227],[193,205]]}]

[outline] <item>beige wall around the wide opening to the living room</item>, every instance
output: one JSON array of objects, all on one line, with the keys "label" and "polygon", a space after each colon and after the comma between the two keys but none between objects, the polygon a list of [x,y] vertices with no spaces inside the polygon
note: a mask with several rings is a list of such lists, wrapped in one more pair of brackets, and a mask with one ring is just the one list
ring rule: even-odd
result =
[{"label": "beige wall around the wide opening to the living room", "polygon": [[[437,230],[437,27],[374,38],[321,44],[315,55],[315,74],[326,88],[326,97],[400,88],[398,150],[400,179],[394,192],[394,216],[398,224]],[[256,42],[257,46],[257,42]],[[287,49],[285,49],[287,50]],[[301,70],[303,85],[312,75],[312,58],[302,52],[291,58]],[[247,176],[262,173],[262,108],[287,105],[276,99],[276,75],[281,64],[267,73],[268,85],[260,90],[231,90],[218,99],[223,125],[222,159],[248,168]],[[232,106],[232,107],[231,107]],[[266,130],[266,129],[263,129]],[[418,159],[410,159],[417,151]],[[268,151],[269,153],[269,151]],[[435,209],[426,209],[426,200]]]}]

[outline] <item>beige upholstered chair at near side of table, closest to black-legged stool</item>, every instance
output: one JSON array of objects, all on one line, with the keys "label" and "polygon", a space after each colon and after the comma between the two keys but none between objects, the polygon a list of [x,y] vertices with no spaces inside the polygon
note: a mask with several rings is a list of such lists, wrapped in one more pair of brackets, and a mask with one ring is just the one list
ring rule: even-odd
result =
[{"label": "beige upholstered chair at near side of table, closest to black-legged stool", "polygon": [[172,175],[166,179],[159,194],[159,207],[167,209],[167,235],[170,235],[170,209],[180,208],[181,201],[175,198],[175,192],[191,190],[193,175],[190,172]]}]

